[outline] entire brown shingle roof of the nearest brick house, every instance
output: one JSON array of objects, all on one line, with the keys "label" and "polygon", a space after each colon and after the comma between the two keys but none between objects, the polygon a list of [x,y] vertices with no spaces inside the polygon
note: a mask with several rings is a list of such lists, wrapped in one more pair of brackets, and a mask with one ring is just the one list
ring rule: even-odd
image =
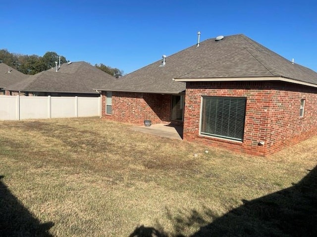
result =
[{"label": "entire brown shingle roof of the nearest brick house", "polygon": [[[285,77],[317,85],[317,73],[292,63],[268,48],[240,34],[220,41],[209,39],[154,62],[120,80],[104,85],[100,90],[178,94],[185,91],[186,81],[212,78],[245,77],[246,80]],[[173,81],[172,79],[175,79]],[[291,81],[293,82],[293,81]]]}]

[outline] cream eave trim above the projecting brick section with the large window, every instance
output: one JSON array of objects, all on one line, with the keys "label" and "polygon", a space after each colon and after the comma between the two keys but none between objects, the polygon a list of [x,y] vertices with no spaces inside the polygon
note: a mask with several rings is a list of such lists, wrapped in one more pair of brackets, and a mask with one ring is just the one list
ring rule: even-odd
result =
[{"label": "cream eave trim above the projecting brick section with the large window", "polygon": [[226,77],[226,78],[174,78],[175,82],[233,82],[233,81],[282,81],[295,83],[303,86],[315,87],[317,84],[303,82],[292,78],[286,78],[282,76],[276,77]]}]

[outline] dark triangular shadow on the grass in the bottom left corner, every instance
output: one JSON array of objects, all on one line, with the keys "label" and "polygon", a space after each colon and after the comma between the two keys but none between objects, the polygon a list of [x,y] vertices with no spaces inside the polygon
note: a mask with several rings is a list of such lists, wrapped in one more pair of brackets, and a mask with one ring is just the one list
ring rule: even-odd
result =
[{"label": "dark triangular shadow on the grass in the bottom left corner", "polygon": [[41,224],[32,213],[8,190],[0,176],[0,236],[52,237],[53,222]]}]

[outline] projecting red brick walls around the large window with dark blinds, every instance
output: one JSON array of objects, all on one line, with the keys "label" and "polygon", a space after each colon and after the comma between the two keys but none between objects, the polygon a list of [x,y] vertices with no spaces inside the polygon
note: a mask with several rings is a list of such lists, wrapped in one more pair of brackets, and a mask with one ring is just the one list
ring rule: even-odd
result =
[{"label": "projecting red brick walls around the large window with dark blinds", "polygon": [[[202,95],[247,97],[243,142],[201,136]],[[305,98],[304,117],[300,101]],[[187,83],[184,140],[269,155],[317,135],[317,90],[282,82]],[[260,141],[264,145],[258,145]]]}]

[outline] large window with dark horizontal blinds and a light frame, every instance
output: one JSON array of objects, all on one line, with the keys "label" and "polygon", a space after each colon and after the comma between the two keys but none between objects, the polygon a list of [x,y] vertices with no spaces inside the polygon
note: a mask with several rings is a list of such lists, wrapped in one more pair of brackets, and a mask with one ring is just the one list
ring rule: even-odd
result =
[{"label": "large window with dark horizontal blinds and a light frame", "polygon": [[203,96],[201,134],[243,141],[246,97]]}]

